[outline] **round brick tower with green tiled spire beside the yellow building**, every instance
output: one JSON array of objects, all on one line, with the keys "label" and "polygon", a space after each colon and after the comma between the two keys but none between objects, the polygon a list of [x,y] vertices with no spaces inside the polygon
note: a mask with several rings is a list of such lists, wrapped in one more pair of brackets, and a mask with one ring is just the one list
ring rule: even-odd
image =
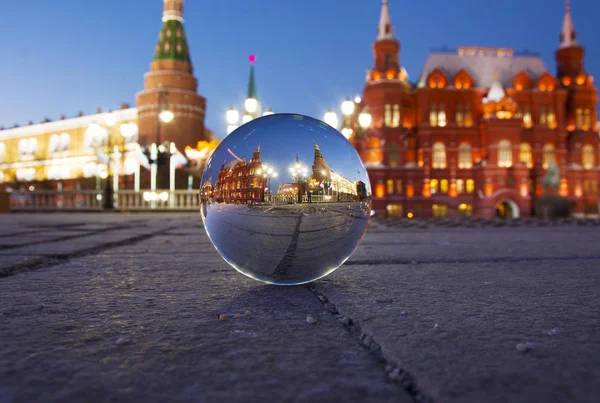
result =
[{"label": "round brick tower with green tiled spire beside the yellow building", "polygon": [[[164,0],[162,21],[144,90],[136,97],[139,141],[142,145],[174,142],[183,150],[214,135],[204,127],[206,99],[197,93],[183,27],[183,0]],[[168,123],[159,119],[165,110],[173,113]]]}]

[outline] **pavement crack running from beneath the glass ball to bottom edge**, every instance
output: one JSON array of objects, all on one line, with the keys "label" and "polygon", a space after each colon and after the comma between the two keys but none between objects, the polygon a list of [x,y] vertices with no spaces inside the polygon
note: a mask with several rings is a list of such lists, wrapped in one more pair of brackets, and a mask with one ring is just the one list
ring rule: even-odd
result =
[{"label": "pavement crack running from beneath the glass ball to bottom edge", "polygon": [[385,357],[379,343],[375,341],[373,335],[366,334],[362,331],[358,321],[340,313],[337,307],[329,301],[327,296],[317,290],[314,283],[310,283],[306,287],[317,297],[325,309],[334,315],[346,330],[357,339],[358,343],[383,365],[383,369],[387,373],[388,378],[394,382],[395,385],[403,388],[416,403],[435,403],[433,398],[419,389],[419,385],[413,375]]}]

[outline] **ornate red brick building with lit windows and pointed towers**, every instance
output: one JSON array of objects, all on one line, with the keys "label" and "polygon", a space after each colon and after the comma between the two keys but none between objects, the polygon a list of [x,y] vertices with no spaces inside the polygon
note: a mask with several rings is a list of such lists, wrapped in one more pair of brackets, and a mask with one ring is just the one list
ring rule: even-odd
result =
[{"label": "ornate red brick building with lit windows and pointed towers", "polygon": [[574,212],[598,213],[598,95],[568,1],[556,74],[537,54],[461,47],[431,53],[410,83],[385,0],[373,54],[348,124],[377,214],[529,216],[551,161]]}]

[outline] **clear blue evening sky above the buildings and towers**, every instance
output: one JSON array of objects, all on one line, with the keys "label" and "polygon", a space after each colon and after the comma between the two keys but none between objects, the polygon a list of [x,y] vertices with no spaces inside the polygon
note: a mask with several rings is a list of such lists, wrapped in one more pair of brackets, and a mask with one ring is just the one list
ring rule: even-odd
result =
[{"label": "clear blue evening sky above the buildings and towers", "polygon": [[[416,80],[432,48],[460,45],[540,52],[555,72],[563,0],[389,0],[400,60]],[[586,68],[600,77],[598,0],[573,0]],[[379,0],[186,0],[186,32],[206,123],[226,130],[241,109],[248,55],[258,96],[276,112],[322,119],[360,94],[372,65]],[[19,0],[2,4],[0,126],[135,103],[161,27],[161,0]]]}]

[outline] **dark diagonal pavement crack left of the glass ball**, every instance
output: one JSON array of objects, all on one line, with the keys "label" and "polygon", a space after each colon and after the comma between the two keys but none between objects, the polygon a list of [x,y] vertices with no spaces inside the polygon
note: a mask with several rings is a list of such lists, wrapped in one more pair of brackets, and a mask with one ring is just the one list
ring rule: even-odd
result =
[{"label": "dark diagonal pavement crack left of the glass ball", "polygon": [[[126,228],[128,228],[128,227],[126,227]],[[154,231],[151,233],[147,233],[147,234],[136,235],[136,236],[133,236],[126,240],[104,242],[104,243],[98,244],[96,246],[81,249],[74,253],[44,255],[38,259],[34,259],[31,262],[17,264],[17,265],[13,265],[13,266],[9,266],[9,267],[0,269],[0,278],[14,276],[16,274],[23,273],[25,271],[40,270],[40,269],[45,269],[48,267],[53,267],[58,264],[64,263],[65,261],[67,261],[69,259],[96,255],[96,254],[104,252],[106,250],[121,247],[121,246],[134,245],[141,241],[145,241],[147,239],[153,238],[157,235],[163,235],[165,231],[169,231],[174,228],[177,228],[177,227],[172,226],[172,227],[168,227],[168,228],[161,228],[160,230],[157,230],[157,231]],[[97,235],[99,233],[101,233],[101,231],[95,232],[92,235]]]}]

